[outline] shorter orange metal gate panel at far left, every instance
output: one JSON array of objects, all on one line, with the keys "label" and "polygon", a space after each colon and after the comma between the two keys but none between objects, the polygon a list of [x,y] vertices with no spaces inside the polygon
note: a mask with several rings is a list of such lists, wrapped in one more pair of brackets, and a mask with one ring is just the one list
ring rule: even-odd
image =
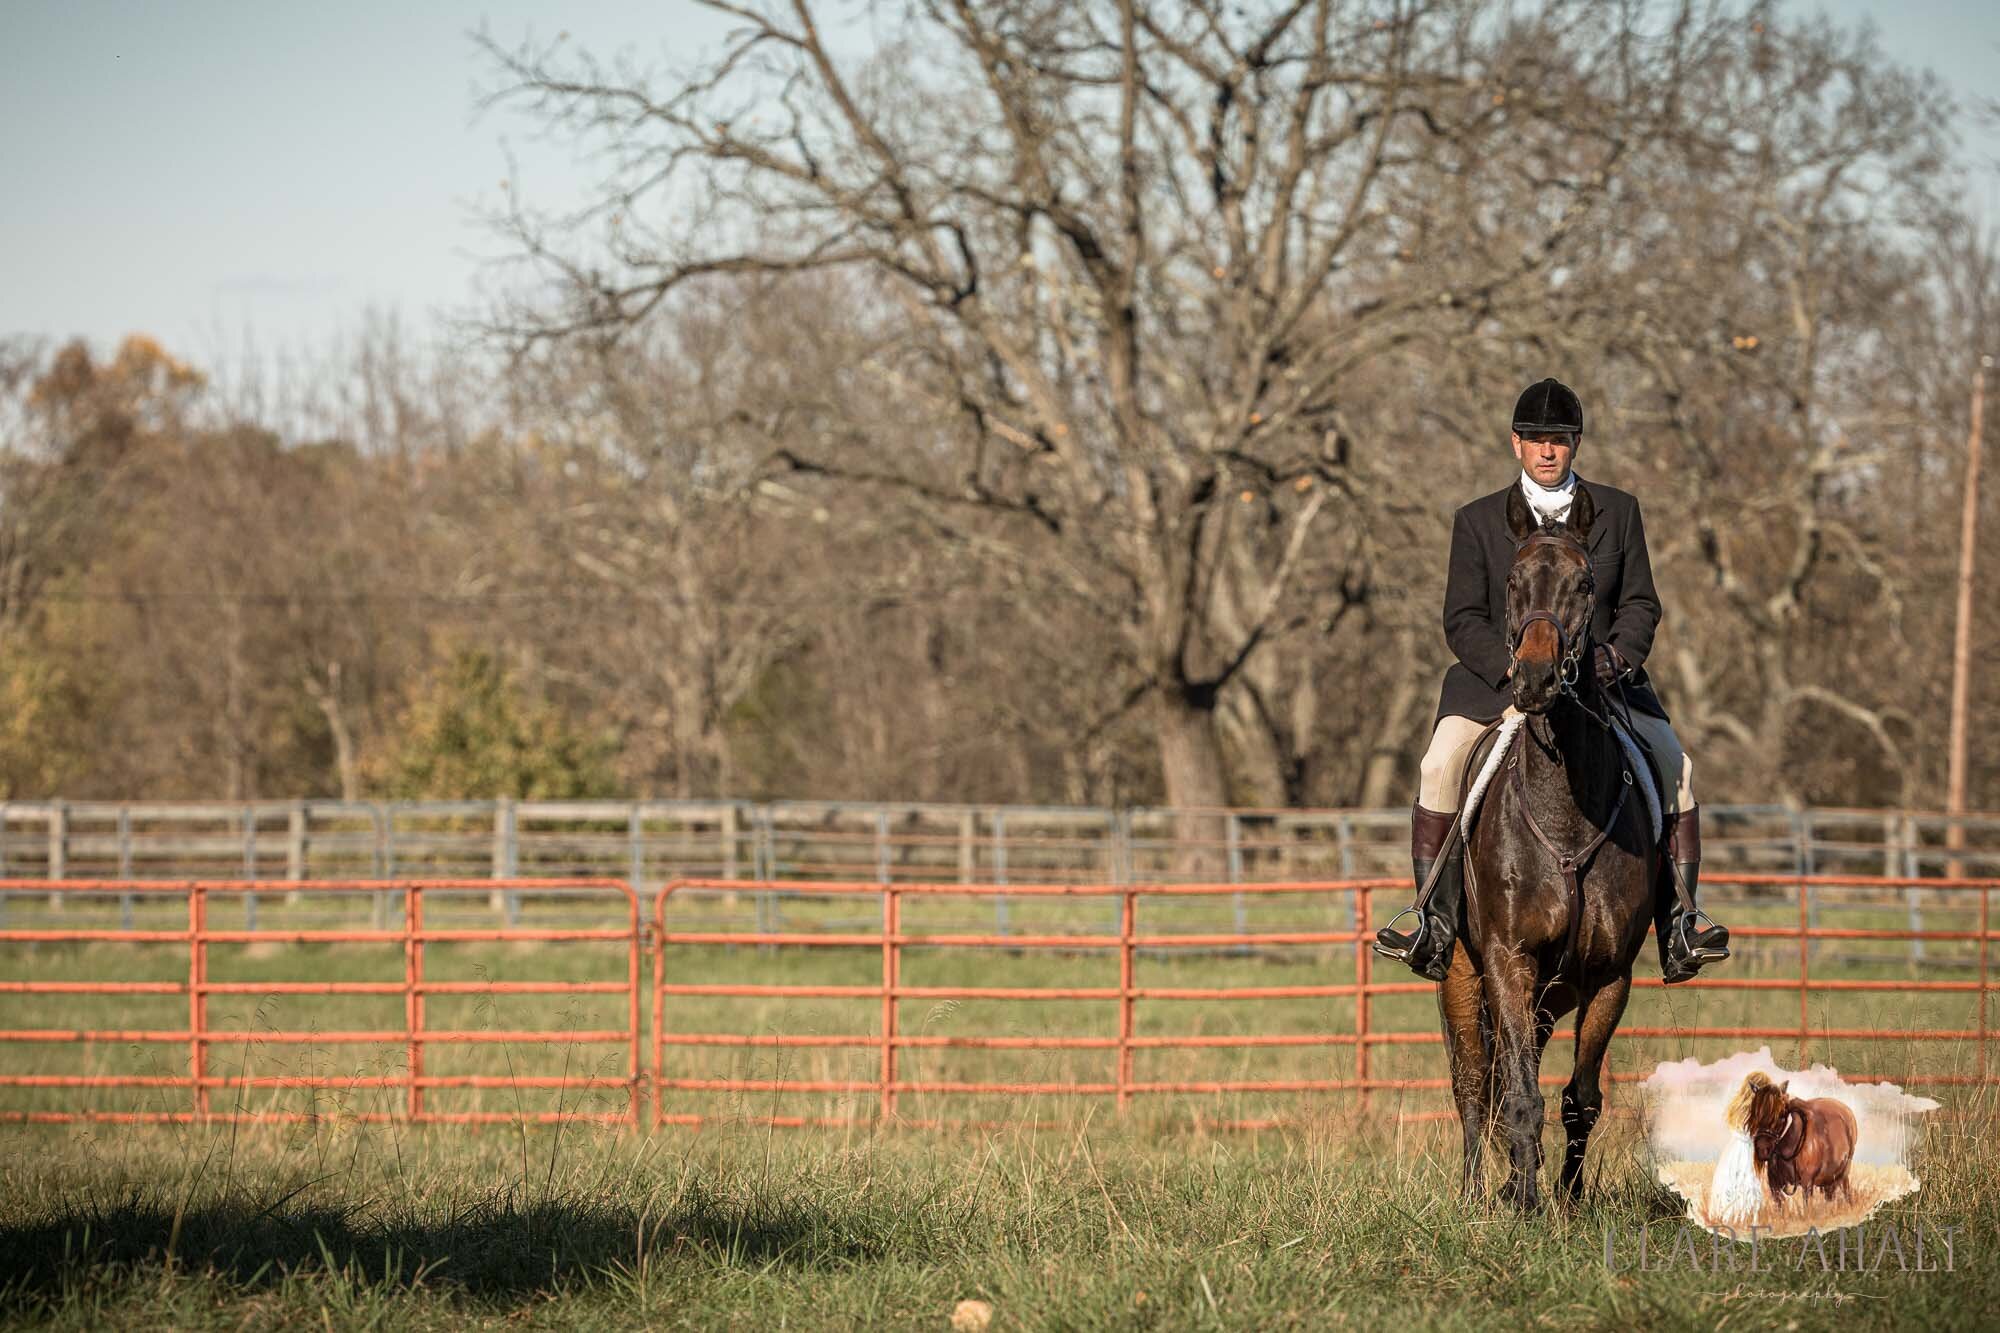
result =
[{"label": "shorter orange metal gate panel at far left", "polygon": [[[28,887],[30,881],[0,881],[0,889],[20,891]],[[74,921],[66,921],[60,927],[32,927],[32,929],[0,929],[0,945],[18,945],[26,949],[42,947],[104,947],[104,945],[178,945],[186,949],[182,961],[184,973],[174,979],[142,979],[134,981],[128,973],[134,969],[132,957],[100,955],[96,961],[104,965],[104,971],[126,973],[116,977],[22,977],[28,969],[8,969],[10,975],[0,977],[0,1001],[14,1001],[16,997],[28,1001],[30,1005],[64,1005],[74,1011],[74,1007],[88,1001],[114,1001],[120,1013],[136,1001],[150,997],[168,999],[172,1003],[186,1003],[186,1021],[174,1027],[100,1027],[88,1021],[80,1025],[64,1027],[0,1027],[0,1049],[14,1051],[24,1049],[30,1053],[48,1053],[50,1049],[64,1047],[176,1047],[186,1051],[184,1071],[152,1071],[152,1073],[46,1073],[46,1071],[22,1071],[12,1067],[12,1063],[0,1069],[0,1089],[34,1089],[34,1091],[144,1091],[144,1093],[174,1093],[172,1101],[160,1099],[158,1105],[144,1109],[92,1109],[92,1107],[0,1107],[0,1121],[28,1121],[28,1123],[66,1123],[66,1121],[112,1121],[112,1123],[186,1123],[186,1121],[214,1121],[214,1119],[240,1119],[240,1121],[300,1121],[300,1119],[334,1119],[318,1109],[298,1111],[298,1109],[274,1109],[260,1107],[248,1109],[242,1101],[254,1091],[304,1091],[308,1095],[340,1095],[354,1097],[364,1095],[370,1105],[362,1111],[352,1111],[342,1107],[340,1119],[358,1121],[444,1121],[444,1123],[506,1123],[516,1121],[526,1115],[526,1119],[536,1121],[556,1121],[556,1119],[612,1119],[628,1125],[638,1125],[640,1117],[640,953],[644,925],[640,921],[638,899],[622,881],[608,879],[562,879],[562,881],[524,881],[522,889],[538,889],[544,893],[564,893],[564,895],[586,895],[586,897],[610,897],[610,915],[614,919],[622,917],[622,923],[602,929],[546,929],[546,927],[520,927],[506,925],[502,929],[474,927],[474,929],[454,929],[440,927],[426,921],[426,901],[436,899],[442,893],[454,891],[478,891],[486,893],[490,889],[488,881],[478,879],[434,879],[434,881],[322,881],[312,885],[294,885],[288,881],[48,881],[32,885],[40,893],[56,895],[58,899],[80,899],[84,903],[96,899],[118,899],[120,903],[142,901],[158,903],[170,913],[170,921],[158,921],[156,913],[146,913],[148,923],[144,929],[134,929],[130,913],[124,913],[118,925],[90,927]],[[218,925],[210,915],[210,905],[218,897],[238,897],[244,903],[252,903],[258,893],[266,891],[298,891],[300,895],[332,899],[332,897],[354,897],[364,895],[370,903],[380,903],[384,899],[400,899],[402,913],[400,923],[394,927],[370,927],[370,929],[230,929]],[[178,903],[176,903],[178,899]],[[78,913],[64,913],[78,915]],[[606,981],[578,981],[574,977],[544,977],[536,981],[498,981],[492,977],[484,979],[436,979],[426,975],[426,959],[434,957],[438,947],[448,945],[576,945],[576,943],[600,943],[618,945],[624,951],[624,977]],[[374,979],[374,981],[354,981],[354,979],[330,979],[330,977],[258,977],[258,979],[218,979],[212,975],[212,963],[216,949],[228,947],[258,947],[270,949],[272,945],[290,945],[292,951],[288,961],[306,961],[310,955],[306,951],[324,949],[328,945],[374,945],[378,949],[394,951],[400,967],[400,977],[394,979]],[[432,1023],[432,1015],[426,1009],[446,997],[476,997],[484,1003],[494,1003],[498,997],[584,997],[584,995],[622,995],[626,1009],[624,1027],[610,1029],[562,1029],[542,1025],[528,1025],[522,1029],[494,1029],[492,1025],[466,1029]],[[312,1001],[326,1005],[332,1001],[348,999],[352,1001],[386,1001],[392,1007],[400,1007],[400,1023],[378,1025],[370,1029],[354,1027],[312,1027],[284,1029],[274,1025],[244,1027],[238,1023],[218,1023],[218,1015],[212,1013],[216,999],[240,997],[254,999],[258,1003],[268,1003],[270,997],[310,997]],[[314,1011],[318,1013],[318,1011]],[[40,1017],[40,1013],[38,1013]],[[564,1069],[560,1075],[532,1075],[508,1069],[506,1073],[426,1073],[428,1053],[436,1047],[502,1047],[502,1045],[544,1045],[544,1043],[564,1043],[566,1047],[576,1045],[614,1045],[624,1047],[626,1073],[622,1077],[602,1077],[602,1075],[580,1075]],[[238,1071],[232,1075],[224,1065],[218,1065],[214,1051],[218,1047],[228,1047],[244,1051],[244,1059],[238,1063]],[[382,1073],[358,1075],[354,1071],[336,1073],[326,1069],[314,1069],[308,1073],[282,1073],[282,1075],[258,1075],[250,1073],[248,1049],[252,1047],[372,1047],[384,1053],[400,1057],[396,1061],[384,1061]],[[34,1063],[34,1055],[28,1057]],[[440,1109],[432,1105],[430,1097],[444,1089],[496,1089],[508,1093],[522,1093],[528,1089],[550,1089],[558,1093],[572,1093],[584,1089],[618,1089],[624,1095],[624,1109],[616,1113],[578,1113],[578,1111],[528,1111],[524,1113],[518,1105],[510,1111],[492,1109]],[[234,1093],[238,1101],[234,1105],[218,1105],[218,1095]],[[392,1097],[370,1097],[374,1093]],[[318,1105],[318,1103],[314,1103]]]}]

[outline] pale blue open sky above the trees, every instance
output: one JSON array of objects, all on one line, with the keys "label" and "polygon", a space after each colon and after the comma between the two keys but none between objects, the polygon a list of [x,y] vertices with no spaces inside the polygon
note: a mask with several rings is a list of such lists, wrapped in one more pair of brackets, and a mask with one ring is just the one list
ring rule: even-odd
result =
[{"label": "pale blue open sky above the trees", "polygon": [[[1872,16],[1892,56],[2000,96],[1996,0],[1796,8]],[[536,206],[592,180],[518,112],[476,112],[480,24],[674,64],[726,30],[674,2],[0,2],[0,334],[146,330],[204,368],[310,358],[366,310],[428,338],[502,250],[474,212],[508,152]],[[2000,158],[2000,136],[1972,150]],[[1980,192],[2000,216],[2000,174]]]}]

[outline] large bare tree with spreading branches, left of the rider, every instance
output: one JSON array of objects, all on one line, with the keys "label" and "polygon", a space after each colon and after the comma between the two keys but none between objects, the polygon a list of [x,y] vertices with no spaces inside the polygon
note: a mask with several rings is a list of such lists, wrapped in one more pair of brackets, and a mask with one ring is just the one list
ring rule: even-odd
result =
[{"label": "large bare tree with spreading branches, left of the rider", "polygon": [[[1558,262],[1674,114],[1688,50],[1636,6],[938,0],[856,62],[804,0],[710,8],[740,28],[664,82],[482,38],[492,102],[618,164],[584,218],[498,220],[562,288],[488,330],[524,352],[616,338],[704,280],[862,274],[900,336],[858,370],[938,430],[774,462],[942,526],[1002,516],[992,560],[1118,626],[1118,707],[1150,707],[1184,809],[1228,799],[1224,689],[1366,582],[1350,384]],[[1330,580],[1300,588],[1310,556]]]}]

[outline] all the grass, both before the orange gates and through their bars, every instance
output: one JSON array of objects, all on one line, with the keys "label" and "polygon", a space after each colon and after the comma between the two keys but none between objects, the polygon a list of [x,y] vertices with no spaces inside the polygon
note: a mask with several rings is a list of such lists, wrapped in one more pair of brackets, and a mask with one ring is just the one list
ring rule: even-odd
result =
[{"label": "all the grass, both before the orange gates and through their bars", "polygon": [[[1252,897],[1250,927],[1344,929],[1338,903],[1276,905]],[[738,905],[740,907],[740,905]],[[870,905],[872,907],[872,905]],[[968,903],[926,905],[906,929],[964,929]],[[100,909],[114,911],[110,907]],[[148,909],[140,905],[140,915]],[[260,925],[286,925],[266,903]],[[360,907],[356,905],[356,911]],[[466,905],[472,919],[474,907]],[[688,921],[730,925],[726,905]],[[990,909],[986,909],[990,911]],[[1108,929],[1112,903],[1018,903],[1010,929]],[[1228,901],[1148,905],[1146,929],[1216,929]],[[1384,903],[1378,917],[1392,905]],[[558,907],[530,905],[526,923]],[[220,915],[220,913],[218,913]],[[574,913],[572,913],[574,915]],[[1880,923],[1900,921],[1892,903]],[[10,927],[48,925],[46,905],[16,901]],[[76,909],[60,915],[82,923]],[[434,913],[434,921],[444,921]],[[786,907],[792,929],[852,929],[856,905]],[[1796,923],[1786,903],[1744,903],[1730,925]],[[102,917],[92,919],[102,925]],[[990,915],[986,925],[990,925]],[[294,917],[292,925],[302,925]],[[1868,909],[1842,925],[1874,925]],[[136,925],[144,925],[142,921]],[[1954,923],[1940,919],[1940,927]],[[692,929],[692,927],[690,927]],[[1962,929],[1956,927],[1956,929]],[[1796,945],[1744,951],[1734,975],[1796,975]],[[1814,957],[1814,975],[1906,979],[1904,959],[1840,963]],[[1936,945],[1924,975],[1966,979],[1966,945]],[[1648,945],[1650,951],[1650,945]],[[402,977],[398,947],[218,945],[212,979],[244,983]],[[616,979],[622,953],[606,945],[440,945],[436,979]],[[1942,955],[1942,957],[1940,957]],[[1150,951],[1138,985],[1296,985],[1352,979],[1352,947],[1276,957]],[[880,977],[880,951],[684,947],[668,975],[702,981],[832,981]],[[184,945],[34,945],[0,959],[10,979],[186,979]],[[1652,967],[1650,953],[1642,973]],[[650,969],[650,965],[648,965]],[[1976,975],[1976,973],[1972,973]],[[1110,985],[1114,953],[912,949],[910,985]],[[1816,993],[1816,1031],[1976,1023],[1976,995]],[[1352,1031],[1350,997],[1200,1003],[1148,1001],[1140,1033]],[[1430,995],[1372,1001],[1376,1031],[1436,1031]],[[648,1003],[650,1011],[650,1003]],[[186,1027],[186,999],[0,997],[0,1027]],[[1650,991],[1632,1025],[1790,1025],[1792,993]],[[222,1073],[316,1069],[336,1087],[216,1093],[218,1107],[302,1111],[290,1127],[0,1127],[0,1321],[52,1327],[910,1327],[942,1329],[960,1299],[994,1307],[994,1329],[1180,1327],[1986,1327],[2000,1305],[2000,1131],[1992,1091],[1938,1089],[1948,1115],[1932,1117],[1916,1157],[1924,1185],[1878,1215],[1910,1235],[1958,1227],[1954,1271],[1820,1271],[1818,1257],[1774,1271],[1632,1271],[1634,1237],[1652,1225],[1654,1261],[1678,1227],[1680,1201],[1652,1183],[1616,1087],[1600,1127],[1592,1189],[1578,1215],[1514,1219],[1454,1197],[1454,1125],[1408,1123],[1398,1111],[1442,1107],[1436,1093],[1352,1095],[1216,1093],[1152,1097],[1116,1117],[1104,1101],[908,1095],[902,1115],[978,1119],[978,1129],[878,1129],[874,1097],[858,1093],[686,1095],[676,1105],[710,1115],[700,1131],[630,1135],[592,1125],[494,1125],[484,1131],[372,1125],[358,1113],[392,1109],[402,1093],[370,1087],[400,1071],[402,1047],[312,1047],[260,1041],[286,1029],[400,1029],[402,997],[262,995],[250,985],[210,1001],[210,1019],[252,1035],[218,1047]],[[868,1035],[874,999],[700,999],[668,1011],[674,1031]],[[596,1029],[622,1023],[622,997],[464,995],[434,1001],[430,1027]],[[904,1001],[906,1033],[1106,1035],[1106,1001]],[[1652,1039],[1618,1051],[1620,1071],[1656,1059],[1712,1059],[1758,1041]],[[1786,1041],[1772,1041],[1780,1061]],[[1962,1073],[1976,1043],[1850,1041],[1816,1037],[1812,1055],[1878,1075]],[[1140,1079],[1344,1077],[1350,1047],[1140,1053]],[[560,1037],[476,1049],[438,1049],[430,1071],[622,1073],[618,1047]],[[670,1049],[676,1069],[744,1077],[872,1079],[868,1049]],[[914,1049],[908,1079],[1102,1079],[1106,1051]],[[6,1045],[8,1071],[186,1071],[184,1045]],[[1436,1047],[1386,1045],[1374,1071],[1438,1075]],[[1566,1069],[1552,1047],[1550,1071]],[[338,1085],[346,1077],[346,1085]],[[184,1105],[180,1089],[6,1089],[10,1109]],[[616,1109],[622,1089],[548,1093],[440,1089],[460,1109]],[[1554,1097],[1550,1095],[1550,1109]],[[838,1115],[830,1131],[766,1129],[764,1115]],[[1214,1133],[1238,1117],[1280,1117],[1282,1129]],[[1548,1151],[1560,1149],[1550,1127]],[[1614,1237],[1618,1271],[1606,1269]],[[1732,1255],[1734,1251],[1722,1251]],[[1744,1255],[1738,1263],[1746,1261]],[[1770,1261],[1770,1257],[1766,1257]]]}]

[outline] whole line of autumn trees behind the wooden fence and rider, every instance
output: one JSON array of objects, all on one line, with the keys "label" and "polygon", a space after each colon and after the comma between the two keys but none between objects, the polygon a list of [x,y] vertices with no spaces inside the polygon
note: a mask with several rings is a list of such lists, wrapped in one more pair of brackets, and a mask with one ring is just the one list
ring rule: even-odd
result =
[{"label": "whole line of autumn trees behind the wooden fence and rider", "polygon": [[492,220],[458,350],[280,400],[6,344],[0,795],[1400,805],[1450,514],[1556,374],[1704,797],[1940,803],[2000,280],[1978,108],[1866,34],[718,8],[674,76],[486,40],[612,168]]}]

